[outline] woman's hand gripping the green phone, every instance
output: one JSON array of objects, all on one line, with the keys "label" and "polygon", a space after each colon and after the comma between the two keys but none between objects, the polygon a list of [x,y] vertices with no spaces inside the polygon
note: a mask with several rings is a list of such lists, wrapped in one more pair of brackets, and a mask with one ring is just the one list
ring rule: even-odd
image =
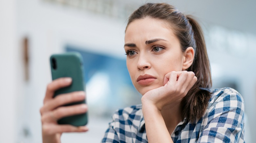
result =
[{"label": "woman's hand gripping the green phone", "polygon": [[82,114],[87,112],[86,104],[75,104],[63,106],[68,103],[79,102],[85,99],[84,91],[65,93],[53,98],[54,92],[60,88],[71,85],[71,78],[58,78],[47,86],[44,105],[40,109],[42,121],[42,137],[44,143],[60,142],[60,135],[63,132],[86,132],[86,126],[72,126],[58,124],[57,120],[63,117]]}]

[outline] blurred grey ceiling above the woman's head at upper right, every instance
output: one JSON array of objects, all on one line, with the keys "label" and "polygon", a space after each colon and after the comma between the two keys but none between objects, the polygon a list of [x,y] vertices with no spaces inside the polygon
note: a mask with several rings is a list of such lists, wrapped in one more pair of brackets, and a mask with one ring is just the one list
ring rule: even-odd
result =
[{"label": "blurred grey ceiling above the woman's head at upper right", "polygon": [[185,14],[192,14],[203,23],[256,35],[256,1],[254,0],[132,0],[132,2],[137,3],[138,6],[146,2],[167,2]]}]

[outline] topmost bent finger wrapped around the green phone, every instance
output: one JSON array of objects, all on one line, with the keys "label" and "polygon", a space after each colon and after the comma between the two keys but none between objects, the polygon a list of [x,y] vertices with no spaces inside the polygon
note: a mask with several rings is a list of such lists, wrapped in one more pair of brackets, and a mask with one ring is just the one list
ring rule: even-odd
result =
[{"label": "topmost bent finger wrapped around the green phone", "polygon": [[53,98],[53,94],[57,89],[62,87],[67,87],[72,83],[72,78],[64,77],[53,80],[50,84],[47,85],[46,94],[44,98],[44,103]]}]

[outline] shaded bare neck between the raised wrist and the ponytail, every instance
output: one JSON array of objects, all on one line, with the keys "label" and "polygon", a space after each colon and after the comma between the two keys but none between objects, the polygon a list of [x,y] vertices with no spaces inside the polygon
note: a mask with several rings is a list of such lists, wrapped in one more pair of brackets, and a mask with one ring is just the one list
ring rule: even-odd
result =
[{"label": "shaded bare neck between the raised wrist and the ponytail", "polygon": [[183,120],[181,118],[181,103],[164,106],[161,110],[161,114],[171,135],[176,126]]}]

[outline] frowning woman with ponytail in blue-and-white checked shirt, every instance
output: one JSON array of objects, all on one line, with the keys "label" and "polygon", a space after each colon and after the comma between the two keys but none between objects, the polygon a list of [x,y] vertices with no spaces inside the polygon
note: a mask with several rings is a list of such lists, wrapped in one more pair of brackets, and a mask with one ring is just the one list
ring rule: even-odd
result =
[{"label": "frowning woman with ponytail in blue-and-white checked shirt", "polygon": [[[130,16],[124,49],[142,104],[117,110],[102,142],[244,142],[243,98],[232,88],[209,90],[210,65],[194,19],[171,5],[147,3]],[[56,89],[70,83],[66,78],[48,85],[41,108],[43,142],[87,131],[56,124],[87,110],[86,105],[55,109],[84,99],[83,92],[53,99]]]}]

